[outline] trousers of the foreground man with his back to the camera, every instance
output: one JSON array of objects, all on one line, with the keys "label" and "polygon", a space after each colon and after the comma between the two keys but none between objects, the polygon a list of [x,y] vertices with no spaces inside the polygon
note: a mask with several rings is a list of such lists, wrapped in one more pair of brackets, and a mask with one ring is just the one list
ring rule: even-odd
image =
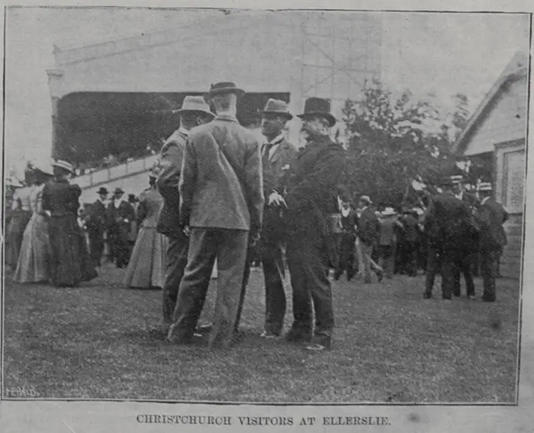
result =
[{"label": "trousers of the foreground man with his back to the camera", "polygon": [[191,229],[187,265],[178,290],[169,336],[175,336],[181,342],[189,342],[193,337],[217,260],[217,294],[208,346],[230,347],[239,315],[247,250],[246,230]]}]

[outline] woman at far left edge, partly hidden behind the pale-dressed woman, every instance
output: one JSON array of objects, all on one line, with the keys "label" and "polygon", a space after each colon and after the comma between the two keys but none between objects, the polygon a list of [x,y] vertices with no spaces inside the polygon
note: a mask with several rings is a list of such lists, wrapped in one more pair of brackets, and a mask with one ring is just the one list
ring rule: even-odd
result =
[{"label": "woman at far left edge, partly hidden behind the pale-dressed woman", "polygon": [[31,218],[30,194],[33,191],[33,175],[31,186],[17,188],[11,204],[11,218],[6,229],[6,265],[15,271],[19,261],[20,247],[24,230]]}]

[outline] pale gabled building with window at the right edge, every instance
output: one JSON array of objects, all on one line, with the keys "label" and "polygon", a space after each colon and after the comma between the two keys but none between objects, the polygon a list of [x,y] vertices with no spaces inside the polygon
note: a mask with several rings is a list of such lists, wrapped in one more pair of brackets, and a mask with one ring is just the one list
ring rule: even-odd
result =
[{"label": "pale gabled building with window at the right edge", "polygon": [[517,52],[476,109],[455,143],[467,158],[476,157],[492,167],[494,198],[510,220],[501,274],[519,278],[526,180],[528,54]]}]

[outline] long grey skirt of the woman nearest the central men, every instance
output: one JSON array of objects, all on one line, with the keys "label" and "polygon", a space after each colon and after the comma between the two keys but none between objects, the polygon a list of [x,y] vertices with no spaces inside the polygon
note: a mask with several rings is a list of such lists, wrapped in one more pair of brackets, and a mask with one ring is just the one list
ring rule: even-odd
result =
[{"label": "long grey skirt of the woman nearest the central men", "polygon": [[141,227],[126,268],[124,285],[130,288],[162,288],[168,240],[155,227]]}]

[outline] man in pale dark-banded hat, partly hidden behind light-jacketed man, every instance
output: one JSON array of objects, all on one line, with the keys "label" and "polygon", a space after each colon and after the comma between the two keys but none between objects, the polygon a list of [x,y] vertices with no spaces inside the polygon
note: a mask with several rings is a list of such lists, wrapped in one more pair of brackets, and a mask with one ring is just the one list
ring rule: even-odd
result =
[{"label": "man in pale dark-banded hat, partly hidden behind light-jacketed man", "polygon": [[186,96],[182,107],[174,113],[180,115],[180,127],[169,136],[162,147],[160,172],[156,181],[157,189],[163,197],[157,231],[169,238],[166,274],[162,290],[162,331],[165,336],[169,333],[169,326],[172,323],[178,288],[184,275],[185,265],[187,265],[187,251],[189,250],[189,239],[180,229],[180,191],[178,190],[185,142],[193,127],[208,123],[215,117],[201,96]]}]

